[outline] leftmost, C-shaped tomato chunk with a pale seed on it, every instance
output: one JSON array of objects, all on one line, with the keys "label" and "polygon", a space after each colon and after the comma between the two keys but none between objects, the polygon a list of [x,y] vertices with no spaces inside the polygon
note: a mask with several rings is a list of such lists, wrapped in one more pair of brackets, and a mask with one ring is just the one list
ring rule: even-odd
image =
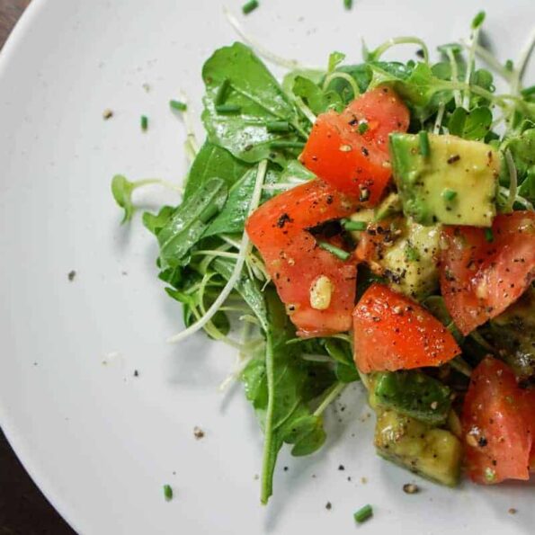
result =
[{"label": "leftmost, C-shaped tomato chunk with a pale seed on it", "polygon": [[[308,228],[343,218],[355,210],[356,204],[354,199],[315,180],[265,202],[246,222],[247,234],[262,254],[300,336],[334,334],[351,328],[356,262],[352,258],[340,260],[319,248]],[[313,299],[318,288],[324,298],[319,305]]]}]

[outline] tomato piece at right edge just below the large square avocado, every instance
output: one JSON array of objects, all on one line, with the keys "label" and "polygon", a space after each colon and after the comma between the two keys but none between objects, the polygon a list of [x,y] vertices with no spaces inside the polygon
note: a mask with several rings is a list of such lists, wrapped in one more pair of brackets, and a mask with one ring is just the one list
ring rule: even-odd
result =
[{"label": "tomato piece at right edge just below the large square avocado", "polygon": [[535,213],[499,215],[492,242],[476,227],[445,227],[441,293],[462,334],[498,316],[535,279]]}]

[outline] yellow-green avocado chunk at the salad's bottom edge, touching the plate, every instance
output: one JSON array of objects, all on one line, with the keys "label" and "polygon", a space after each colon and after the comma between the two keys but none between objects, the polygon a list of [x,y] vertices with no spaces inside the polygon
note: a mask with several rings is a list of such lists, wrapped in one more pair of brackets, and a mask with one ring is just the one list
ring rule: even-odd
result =
[{"label": "yellow-green avocado chunk at the salad's bottom edge, touching the plate", "polygon": [[381,457],[420,476],[447,486],[459,481],[462,447],[449,431],[388,410],[378,416],[374,442]]}]

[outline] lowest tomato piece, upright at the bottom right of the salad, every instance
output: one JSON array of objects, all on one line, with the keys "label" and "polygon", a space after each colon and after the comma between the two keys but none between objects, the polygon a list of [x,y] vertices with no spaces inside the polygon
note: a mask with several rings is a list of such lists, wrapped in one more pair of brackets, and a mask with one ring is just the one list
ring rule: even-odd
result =
[{"label": "lowest tomato piece, upright at the bottom right of the salad", "polygon": [[476,483],[529,479],[533,409],[528,396],[533,399],[502,361],[487,357],[472,372],[461,421],[468,475]]}]

